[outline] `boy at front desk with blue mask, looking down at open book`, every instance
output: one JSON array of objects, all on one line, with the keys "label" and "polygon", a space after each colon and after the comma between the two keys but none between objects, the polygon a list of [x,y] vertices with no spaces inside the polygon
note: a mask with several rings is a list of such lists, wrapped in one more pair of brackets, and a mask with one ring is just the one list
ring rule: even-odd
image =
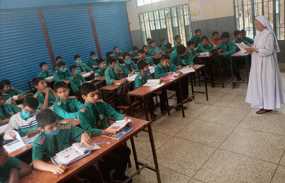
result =
[{"label": "boy at front desk with blue mask, looking down at open book", "polygon": [[[50,160],[50,157],[54,157],[56,153],[70,147],[73,140],[80,141],[80,146],[83,143],[88,147],[94,145],[89,132],[72,124],[59,123],[56,114],[50,109],[40,111],[36,120],[40,134],[33,141],[32,160],[34,168],[38,170],[50,171],[55,175],[63,174],[68,169],[67,166],[49,164],[44,160],[47,158]],[[79,172],[78,177],[88,178],[90,182],[103,182],[94,165]]]}]

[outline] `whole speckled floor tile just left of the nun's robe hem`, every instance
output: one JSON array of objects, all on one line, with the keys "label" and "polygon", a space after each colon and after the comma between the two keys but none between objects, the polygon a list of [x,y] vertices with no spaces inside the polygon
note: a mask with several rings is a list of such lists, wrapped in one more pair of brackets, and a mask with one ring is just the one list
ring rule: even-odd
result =
[{"label": "whole speckled floor tile just left of the nun's robe hem", "polygon": [[235,109],[223,106],[211,106],[205,110],[199,120],[222,123],[226,125],[237,126],[241,120],[247,115],[249,110]]}]

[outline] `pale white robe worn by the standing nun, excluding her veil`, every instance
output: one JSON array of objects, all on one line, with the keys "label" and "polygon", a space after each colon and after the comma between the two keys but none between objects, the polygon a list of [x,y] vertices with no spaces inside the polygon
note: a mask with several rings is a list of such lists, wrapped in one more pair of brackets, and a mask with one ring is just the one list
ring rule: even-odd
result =
[{"label": "pale white robe worn by the standing nun, excluding her veil", "polygon": [[274,50],[275,35],[267,28],[254,38],[251,72],[245,102],[251,107],[274,109],[281,108],[285,103],[285,91],[280,76],[276,51]]}]

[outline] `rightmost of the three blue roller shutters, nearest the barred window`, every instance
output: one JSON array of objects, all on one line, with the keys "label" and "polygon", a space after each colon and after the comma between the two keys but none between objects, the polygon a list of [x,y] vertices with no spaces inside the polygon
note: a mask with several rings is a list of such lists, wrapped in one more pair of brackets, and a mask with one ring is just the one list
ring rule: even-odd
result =
[{"label": "rightmost of the three blue roller shutters, nearest the barred window", "polygon": [[103,58],[115,46],[122,52],[132,50],[124,2],[95,3],[92,12]]}]

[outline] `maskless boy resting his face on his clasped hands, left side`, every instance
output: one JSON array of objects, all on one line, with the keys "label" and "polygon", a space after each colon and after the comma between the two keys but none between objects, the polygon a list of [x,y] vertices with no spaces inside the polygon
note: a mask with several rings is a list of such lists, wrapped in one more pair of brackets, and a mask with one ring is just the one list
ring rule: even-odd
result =
[{"label": "maskless boy resting his face on his clasped hands, left side", "polygon": [[35,77],[32,79],[32,84],[38,90],[34,94],[34,98],[40,102],[37,109],[44,110],[52,106],[58,96],[55,91],[47,87],[46,80],[43,77]]}]

